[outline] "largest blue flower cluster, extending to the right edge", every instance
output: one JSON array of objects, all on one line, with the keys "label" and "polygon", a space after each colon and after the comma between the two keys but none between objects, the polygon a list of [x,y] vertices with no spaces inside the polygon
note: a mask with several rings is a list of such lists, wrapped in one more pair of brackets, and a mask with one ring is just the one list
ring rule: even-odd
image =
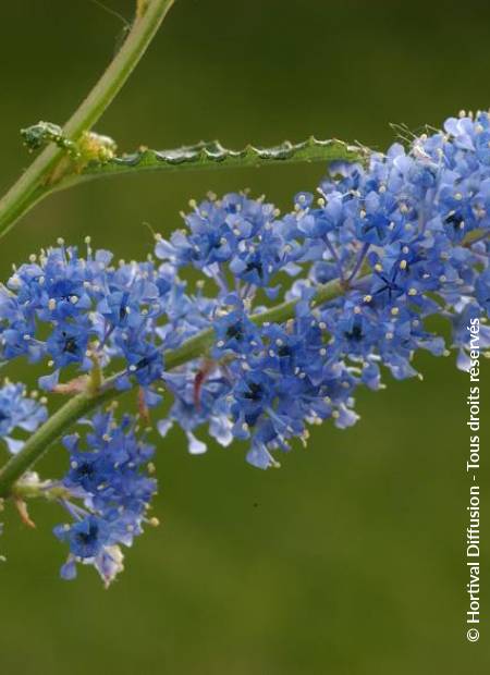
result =
[{"label": "largest blue flower cluster, extending to the right edge", "polygon": [[[248,439],[255,466],[274,466],[271,451],[306,442],[308,424],[352,425],[356,388],[378,389],[382,366],[404,379],[418,375],[418,349],[448,354],[427,328],[433,315],[451,321],[465,367],[466,327],[485,321],[490,303],[489,143],[488,113],[462,114],[367,167],[331,164],[316,202],[299,193],[283,217],[246,195],[192,204],[188,232],[159,241],[156,254],[216,282],[216,341],[211,365],[168,380],[175,404],[162,434],[177,422],[189,450],[203,452],[194,430],[209,424],[222,444]],[[284,295],[294,317],[264,322],[284,273],[298,277]],[[334,280],[342,293],[319,302]],[[490,344],[487,326],[480,344]]]}]

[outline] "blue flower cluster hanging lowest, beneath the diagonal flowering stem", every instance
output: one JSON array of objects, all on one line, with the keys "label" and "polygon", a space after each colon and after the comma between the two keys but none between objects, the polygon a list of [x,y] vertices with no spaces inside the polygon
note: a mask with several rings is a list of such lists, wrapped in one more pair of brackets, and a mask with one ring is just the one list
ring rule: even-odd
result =
[{"label": "blue flower cluster hanging lowest, beneath the diagonal flowering stem", "polygon": [[123,569],[121,544],[131,547],[144,523],[156,523],[148,517],[157,489],[148,477],[154,447],[137,439],[135,420],[127,415],[118,422],[113,410],[99,413],[88,424],[84,446],[76,433],[63,439],[70,470],[61,502],[73,520],[57,526],[54,533],[70,547],[63,578],[76,576],[76,563],[89,564],[108,586]]}]

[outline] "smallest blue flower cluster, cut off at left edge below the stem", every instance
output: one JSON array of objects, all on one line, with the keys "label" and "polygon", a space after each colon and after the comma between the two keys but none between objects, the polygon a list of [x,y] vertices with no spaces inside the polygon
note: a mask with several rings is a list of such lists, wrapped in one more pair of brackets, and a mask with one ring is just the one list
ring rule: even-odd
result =
[{"label": "smallest blue flower cluster, cut off at left edge below the stem", "polygon": [[19,429],[32,433],[48,419],[45,403],[45,398],[38,400],[36,392],[28,396],[24,384],[5,380],[0,386],[0,439],[11,453],[17,453],[24,445],[24,441],[12,438],[12,433]]}]

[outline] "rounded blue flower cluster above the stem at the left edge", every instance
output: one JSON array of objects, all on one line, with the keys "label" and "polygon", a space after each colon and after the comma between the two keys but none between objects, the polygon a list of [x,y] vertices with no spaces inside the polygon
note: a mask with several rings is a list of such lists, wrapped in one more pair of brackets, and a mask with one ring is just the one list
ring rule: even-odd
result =
[{"label": "rounded blue flower cluster above the stem at the left edge", "polygon": [[130,376],[145,389],[161,379],[162,349],[179,344],[180,333],[157,322],[180,314],[182,285],[164,266],[157,272],[151,261],[111,260],[106,250],[94,254],[88,238],[86,258],[60,240],[58,248],[14,269],[0,285],[0,359],[47,359],[53,370],[39,385],[48,391],[61,372],[86,372],[96,364],[122,363],[121,389],[130,386]]}]

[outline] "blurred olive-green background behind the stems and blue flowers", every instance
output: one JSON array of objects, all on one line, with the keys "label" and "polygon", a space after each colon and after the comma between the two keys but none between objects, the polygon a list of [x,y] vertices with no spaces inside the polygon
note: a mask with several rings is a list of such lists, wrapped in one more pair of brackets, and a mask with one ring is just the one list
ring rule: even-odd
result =
[{"label": "blurred olive-green background behind the stems and blue flowers", "polygon": [[[133,2],[106,1],[131,19]],[[90,0],[1,4],[7,188],[29,161],[19,128],[62,123],[124,26]],[[179,0],[98,131],[123,150],[311,133],[384,148],[390,122],[416,131],[488,107],[489,28],[490,4],[471,1]],[[143,223],[169,233],[191,197],[250,187],[286,208],[321,173],[271,167],[93,183],[47,200],[1,241],[1,278],[60,235],[91,234],[118,257],[144,256]],[[128,551],[109,591],[91,569],[59,580],[65,552],[50,533],[53,506],[33,505],[34,531],[9,511],[0,673],[490,672],[486,590],[481,641],[465,638],[467,380],[453,358],[419,364],[425,382],[363,393],[354,429],[316,428],[280,470],[253,469],[243,447],[189,457],[173,432],[159,443],[162,525]],[[26,368],[10,375],[34,382]],[[64,465],[53,455],[45,474]],[[488,496],[482,516],[488,523]],[[488,556],[488,528],[485,537]]]}]

